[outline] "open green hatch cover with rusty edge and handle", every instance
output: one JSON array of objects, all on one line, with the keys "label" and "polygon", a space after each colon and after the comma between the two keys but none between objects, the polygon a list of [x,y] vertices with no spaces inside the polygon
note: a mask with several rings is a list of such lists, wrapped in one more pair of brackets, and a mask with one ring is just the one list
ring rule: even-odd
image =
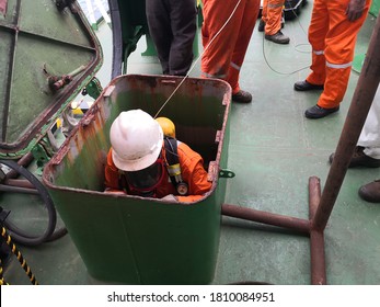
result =
[{"label": "open green hatch cover with rusty edge and handle", "polygon": [[0,158],[45,136],[102,65],[74,0],[0,0]]}]

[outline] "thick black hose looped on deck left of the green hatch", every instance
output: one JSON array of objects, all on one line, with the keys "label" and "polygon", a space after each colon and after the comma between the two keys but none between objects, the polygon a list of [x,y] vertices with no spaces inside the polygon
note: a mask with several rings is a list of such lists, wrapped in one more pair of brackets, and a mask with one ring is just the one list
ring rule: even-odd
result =
[{"label": "thick black hose looped on deck left of the green hatch", "polygon": [[16,162],[12,160],[0,160],[0,164],[4,164],[13,169],[14,171],[23,175],[25,179],[27,179],[39,192],[39,195],[43,198],[47,213],[48,213],[48,225],[45,232],[42,236],[31,236],[24,230],[16,227],[10,220],[5,219],[4,226],[7,227],[13,240],[23,246],[38,246],[43,242],[51,241],[65,236],[67,234],[66,228],[58,229],[56,232],[54,232],[56,228],[56,224],[57,224],[56,208],[53,204],[53,200],[49,193],[47,192],[46,187],[41,183],[41,181],[27,169],[23,168],[22,166],[18,164]]}]

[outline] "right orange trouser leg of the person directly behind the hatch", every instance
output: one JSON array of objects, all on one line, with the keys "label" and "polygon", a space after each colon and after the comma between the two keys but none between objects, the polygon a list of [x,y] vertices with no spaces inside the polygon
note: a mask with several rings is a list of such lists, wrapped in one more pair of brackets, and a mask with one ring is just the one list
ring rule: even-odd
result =
[{"label": "right orange trouser leg of the person directly behind the hatch", "polygon": [[238,41],[233,49],[230,68],[228,71],[227,81],[232,87],[232,93],[240,91],[239,75],[241,66],[243,65],[246,48],[250,44],[251,35],[255,26],[257,15],[260,11],[260,0],[247,0],[245,3],[240,31],[238,34]]}]

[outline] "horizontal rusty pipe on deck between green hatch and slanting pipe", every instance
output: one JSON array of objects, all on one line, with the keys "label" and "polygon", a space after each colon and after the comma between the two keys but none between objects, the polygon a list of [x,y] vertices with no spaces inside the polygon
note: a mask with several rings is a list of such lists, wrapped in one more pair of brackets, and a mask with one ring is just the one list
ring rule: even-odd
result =
[{"label": "horizontal rusty pipe on deck between green hatch and slanting pipe", "polygon": [[283,228],[289,228],[302,234],[309,235],[310,232],[309,220],[296,217],[289,217],[229,204],[221,205],[221,214],[230,217],[268,224]]}]

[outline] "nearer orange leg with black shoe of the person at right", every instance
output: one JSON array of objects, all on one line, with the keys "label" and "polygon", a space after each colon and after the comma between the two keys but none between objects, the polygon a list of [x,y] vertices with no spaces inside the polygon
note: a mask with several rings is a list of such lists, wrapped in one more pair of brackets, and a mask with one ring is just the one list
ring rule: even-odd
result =
[{"label": "nearer orange leg with black shoe of the person at right", "polygon": [[[344,1],[348,5],[349,0]],[[327,2],[330,25],[324,49],[324,90],[318,104],[306,111],[306,117],[321,118],[339,110],[348,84],[356,37],[367,18],[369,5],[370,0],[367,1],[361,16],[352,22],[347,19],[345,10],[342,9],[346,8],[342,1],[330,0]]]}]

